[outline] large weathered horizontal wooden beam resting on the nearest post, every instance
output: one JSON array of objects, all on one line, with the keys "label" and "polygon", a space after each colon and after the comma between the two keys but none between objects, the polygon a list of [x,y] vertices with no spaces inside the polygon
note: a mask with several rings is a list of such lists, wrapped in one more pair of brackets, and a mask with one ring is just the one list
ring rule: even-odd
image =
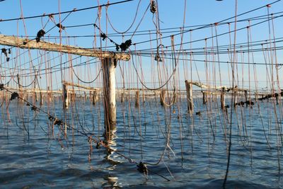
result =
[{"label": "large weathered horizontal wooden beam resting on the nearest post", "polygon": [[130,55],[124,52],[110,52],[95,49],[85,49],[81,47],[74,47],[71,45],[60,45],[52,42],[45,42],[40,40],[27,40],[24,38],[18,38],[16,36],[0,35],[0,45],[7,45],[11,47],[18,47],[21,49],[35,49],[35,50],[46,50],[52,52],[64,52],[72,55],[81,55],[86,57],[98,57],[98,58],[111,58],[129,60]]}]

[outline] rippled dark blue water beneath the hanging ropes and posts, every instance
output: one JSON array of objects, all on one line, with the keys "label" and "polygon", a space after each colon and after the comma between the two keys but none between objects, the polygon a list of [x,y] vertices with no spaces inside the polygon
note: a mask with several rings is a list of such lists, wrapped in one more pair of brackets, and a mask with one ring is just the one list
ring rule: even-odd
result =
[{"label": "rippled dark blue water beneath the hanging ropes and posts", "polygon": [[[77,99],[67,113],[58,99],[49,108],[42,106],[76,129],[67,130],[67,139],[57,125],[52,134],[45,113],[34,118],[30,107],[11,101],[8,118],[4,103],[0,188],[222,188],[231,108],[225,115],[215,102],[209,108],[197,99],[195,112],[201,110],[202,115],[194,113],[191,118],[182,101],[166,110],[155,99],[146,99],[139,108],[134,108],[134,101],[117,103],[117,131],[110,146],[137,163],[156,164],[165,151],[159,164],[148,165],[147,178],[133,162],[108,154],[103,147],[96,149],[94,143],[89,161],[88,137],[76,130],[104,139],[102,102],[93,106]],[[226,188],[283,188],[281,118],[280,106],[273,101],[260,103],[260,111],[255,104],[253,109],[238,107],[233,113]]]}]

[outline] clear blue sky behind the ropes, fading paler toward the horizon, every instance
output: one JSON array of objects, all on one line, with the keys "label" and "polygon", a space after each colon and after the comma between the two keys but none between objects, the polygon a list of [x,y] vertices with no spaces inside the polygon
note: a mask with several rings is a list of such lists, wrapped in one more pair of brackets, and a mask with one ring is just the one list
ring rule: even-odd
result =
[{"label": "clear blue sky behind the ropes, fading paler toward the horizon", "polygon": [[[109,1],[109,3],[113,2],[117,1]],[[224,52],[224,50],[229,48],[232,50],[235,35],[234,33],[229,35],[229,30],[234,30],[234,18],[226,21],[231,22],[230,29],[228,23],[223,25],[215,25],[214,23],[219,23],[219,21],[235,16],[236,11],[238,15],[245,13],[242,16],[237,16],[239,22],[236,24],[236,28],[243,29],[236,32],[236,44],[243,43],[243,49],[250,50],[249,53],[238,53],[236,61],[262,63],[262,65],[258,64],[256,66],[253,64],[237,64],[237,84],[246,88],[271,88],[272,76],[274,76],[273,80],[276,81],[276,71],[279,73],[279,81],[282,81],[280,74],[282,70],[264,64],[275,64],[276,62],[282,64],[282,50],[279,49],[275,52],[274,50],[262,51],[260,49],[262,47],[270,47],[270,45],[276,45],[276,47],[282,46],[280,40],[275,44],[270,42],[265,43],[264,41],[283,37],[283,21],[281,17],[282,13],[280,13],[280,11],[283,11],[283,1],[272,4],[273,2],[275,1],[158,0],[159,20],[157,21],[156,13],[151,13],[151,11],[147,9],[150,4],[149,0],[134,0],[123,4],[108,6],[107,8],[103,7],[100,11],[98,8],[92,8],[86,11],[73,12],[69,15],[56,15],[52,21],[50,21],[48,17],[5,21],[9,18],[48,15],[50,13],[71,11],[74,8],[86,8],[108,3],[108,1],[91,0],[6,0],[0,2],[0,19],[4,20],[0,22],[0,32],[2,35],[19,35],[23,36],[23,38],[28,36],[28,38],[33,39],[37,32],[44,28],[48,33],[42,40],[60,42],[61,36],[62,44],[86,48],[102,47],[103,50],[110,51],[115,51],[115,45],[112,45],[110,39],[119,45],[131,39],[132,43],[137,43],[137,45],[131,45],[127,52],[139,55],[132,56],[129,62],[119,62],[120,67],[116,69],[118,87],[123,86],[123,83],[126,83],[125,87],[128,88],[142,87],[139,79],[148,87],[158,87],[168,81],[171,75],[173,75],[173,77],[171,77],[170,82],[168,82],[169,88],[175,86],[175,82],[182,88],[185,84],[185,79],[192,79],[193,81],[201,81],[212,85],[231,86],[231,64],[226,64],[225,62],[231,62],[233,55],[227,52],[221,54],[217,51],[222,50]],[[265,6],[267,4],[272,5],[267,7]],[[260,8],[262,6],[265,7]],[[246,13],[255,8],[258,8],[258,10]],[[275,13],[275,16],[279,17],[273,20],[270,19],[270,22],[268,22],[267,13]],[[54,28],[54,25],[62,20],[64,20],[62,25],[66,26],[66,28],[62,33],[59,33],[59,28]],[[248,20],[250,20],[250,22]],[[108,35],[109,39],[102,40],[99,37],[100,31],[94,28],[91,23],[96,23],[100,31]],[[157,23],[160,29],[159,35],[156,35]],[[86,24],[86,26],[70,27],[83,24]],[[209,26],[209,24],[212,25]],[[249,24],[252,26],[247,29],[246,27]],[[196,28],[200,28],[198,25],[208,25],[208,27],[195,30]],[[183,26],[185,27],[185,32],[183,35],[180,35],[180,30]],[[190,29],[192,31],[190,31]],[[127,33],[123,33],[125,31],[127,31]],[[133,33],[134,35],[132,35]],[[151,35],[149,35],[149,33],[151,33]],[[217,38],[215,37],[216,34],[219,35]],[[173,35],[173,39],[171,35]],[[155,40],[156,38],[159,40]],[[207,38],[207,40],[204,40],[205,38]],[[249,47],[249,49],[245,47],[247,42],[251,44],[259,40],[261,42],[258,42],[258,44],[265,43],[265,46],[255,45]],[[172,46],[172,42],[175,46]],[[178,45],[181,43],[184,45]],[[162,46],[157,48],[158,45]],[[228,46],[224,47],[224,45]],[[209,50],[209,47],[212,46],[214,46],[213,52]],[[207,48],[204,49],[204,47]],[[192,51],[190,51],[191,48],[193,49]],[[157,49],[158,53],[162,54],[163,62],[154,61]],[[253,49],[255,49],[255,52],[252,53],[251,51],[253,51]],[[212,52],[212,54],[205,56],[205,50]],[[188,54],[178,56],[178,52],[181,51],[185,51]],[[194,53],[193,57],[190,55],[190,52]],[[20,56],[21,53],[23,55]],[[151,57],[149,57],[150,55]],[[173,57],[175,57],[175,59]],[[203,62],[204,59],[207,59],[207,67]],[[26,62],[27,64],[25,64]],[[83,62],[88,62],[89,64],[83,64]],[[64,69],[61,71],[62,67],[59,67],[60,64],[62,64],[63,67],[70,67],[71,65],[79,66],[74,67],[74,70]],[[56,65],[57,67],[55,67]],[[177,69],[174,72],[175,66]],[[53,74],[47,74],[50,69],[44,71],[46,67],[55,67],[51,71]],[[20,71],[18,69],[22,70]],[[32,50],[29,53],[27,50],[18,50],[18,48],[12,49],[11,61],[6,62],[6,57],[1,54],[1,76],[3,83],[7,83],[7,81],[11,80],[10,84],[13,85],[15,84],[13,80],[15,80],[16,74],[21,75],[24,73],[23,76],[25,77],[22,78],[22,81],[23,84],[28,86],[30,82],[34,80],[34,69],[42,69],[40,86],[46,88],[46,86],[51,85],[54,88],[61,88],[62,80],[81,82],[74,76],[74,72],[82,81],[95,79],[96,76],[100,74],[100,62],[91,57],[60,56],[55,52],[47,53],[37,50]],[[274,70],[272,71],[272,69]],[[96,81],[86,85],[100,86],[101,81],[102,78],[99,76]],[[280,84],[277,86],[279,87]]]}]

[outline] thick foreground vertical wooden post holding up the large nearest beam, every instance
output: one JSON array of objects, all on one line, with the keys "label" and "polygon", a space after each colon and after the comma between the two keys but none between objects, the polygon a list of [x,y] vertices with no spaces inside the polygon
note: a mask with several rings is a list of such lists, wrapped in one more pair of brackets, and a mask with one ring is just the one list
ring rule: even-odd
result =
[{"label": "thick foreground vertical wooden post holding up the large nearest beam", "polygon": [[103,93],[105,137],[110,139],[112,130],[116,127],[116,91],[115,91],[115,59],[103,59]]}]

